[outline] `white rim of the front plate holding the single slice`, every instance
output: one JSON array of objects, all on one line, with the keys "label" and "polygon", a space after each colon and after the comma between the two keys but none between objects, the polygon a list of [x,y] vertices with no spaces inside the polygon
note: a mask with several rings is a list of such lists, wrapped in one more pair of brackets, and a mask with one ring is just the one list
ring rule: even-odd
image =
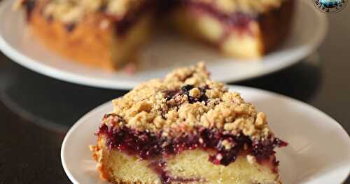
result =
[{"label": "white rim of the front plate holding the single slice", "polygon": [[[287,97],[283,94],[278,94],[275,92],[269,92],[267,90],[261,90],[258,88],[254,88],[254,87],[246,87],[246,86],[239,86],[239,85],[228,85],[229,89],[235,89],[235,91],[239,92],[241,90],[247,90],[247,91],[255,91],[255,92],[259,92],[260,94],[265,94],[265,95],[272,95],[276,98],[279,99],[283,99],[286,101],[291,101],[292,103],[297,104],[297,106],[304,106],[304,108],[310,108],[312,111],[314,111],[315,113],[318,113],[319,115],[322,115],[323,118],[327,119],[327,122],[332,122],[330,126],[334,126],[336,127],[339,131],[342,132],[342,135],[340,136],[347,136],[347,143],[350,143],[350,136],[349,134],[346,132],[346,130],[344,129],[344,127],[342,127],[342,125],[339,124],[339,122],[337,122],[334,118],[330,117],[330,115],[323,113],[323,111],[319,110],[318,108],[311,106],[309,104],[306,104],[302,101],[299,101],[297,99],[293,99],[291,97]],[[71,174],[71,172],[69,171],[68,165],[66,164],[66,144],[69,141],[69,139],[71,139],[71,136],[74,132],[76,132],[76,130],[78,129],[78,127],[83,124],[83,122],[85,122],[85,120],[89,119],[92,115],[94,115],[95,113],[99,113],[99,111],[104,110],[104,106],[108,106],[109,104],[111,104],[111,101],[107,101],[104,104],[97,106],[96,108],[94,108],[92,111],[90,111],[89,113],[86,113],[85,115],[83,115],[82,118],[80,118],[80,120],[78,120],[72,127],[71,129],[69,129],[69,131],[67,132],[66,136],[64,136],[64,141],[62,142],[62,147],[61,147],[61,161],[62,161],[62,166],[64,168],[64,171],[66,172],[66,175],[69,177],[69,179],[73,182],[78,184],[79,181]],[[350,164],[350,163],[348,163]],[[346,180],[347,177],[349,177],[350,174],[350,170],[348,174],[344,174],[341,179],[339,179],[339,181],[341,181],[341,183],[344,183],[344,181]]]}]

